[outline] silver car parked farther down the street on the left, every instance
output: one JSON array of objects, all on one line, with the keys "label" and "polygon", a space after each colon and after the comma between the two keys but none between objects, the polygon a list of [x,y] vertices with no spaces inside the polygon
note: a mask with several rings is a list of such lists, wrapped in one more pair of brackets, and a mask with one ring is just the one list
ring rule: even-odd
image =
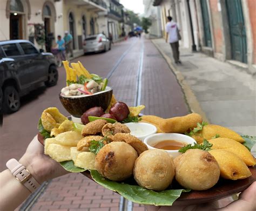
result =
[{"label": "silver car parked farther down the street on the left", "polygon": [[103,33],[99,35],[90,35],[84,40],[84,53],[105,52],[111,49],[110,40]]}]

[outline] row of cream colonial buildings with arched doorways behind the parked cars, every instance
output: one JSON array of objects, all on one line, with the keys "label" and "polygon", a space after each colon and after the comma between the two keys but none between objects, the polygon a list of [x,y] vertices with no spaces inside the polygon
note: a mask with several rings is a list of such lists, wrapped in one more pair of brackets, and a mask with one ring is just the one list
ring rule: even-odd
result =
[{"label": "row of cream colonial buildings with arched doorways behind the parked cars", "polygon": [[83,54],[86,36],[111,32],[117,39],[124,20],[116,0],[1,0],[0,18],[0,40],[29,39],[50,51],[57,35],[69,31],[75,56]]}]

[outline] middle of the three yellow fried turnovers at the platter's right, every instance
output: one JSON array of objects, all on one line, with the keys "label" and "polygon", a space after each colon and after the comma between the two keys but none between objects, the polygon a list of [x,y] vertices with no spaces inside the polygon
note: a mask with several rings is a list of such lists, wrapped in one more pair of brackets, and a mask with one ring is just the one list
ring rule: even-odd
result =
[{"label": "middle of the three yellow fried turnovers at the platter's right", "polygon": [[256,164],[255,158],[248,149],[233,139],[217,138],[208,140],[212,144],[212,149],[225,149],[238,155],[247,166],[254,166]]}]

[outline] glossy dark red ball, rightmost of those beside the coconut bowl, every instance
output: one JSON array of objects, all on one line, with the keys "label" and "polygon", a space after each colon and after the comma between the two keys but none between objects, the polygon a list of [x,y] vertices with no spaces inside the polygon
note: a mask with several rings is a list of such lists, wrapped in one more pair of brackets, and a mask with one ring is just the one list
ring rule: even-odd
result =
[{"label": "glossy dark red ball, rightmost of those beside the coconut bowl", "polygon": [[123,121],[130,114],[130,110],[125,103],[117,102],[110,108],[109,113],[112,114],[117,121]]}]

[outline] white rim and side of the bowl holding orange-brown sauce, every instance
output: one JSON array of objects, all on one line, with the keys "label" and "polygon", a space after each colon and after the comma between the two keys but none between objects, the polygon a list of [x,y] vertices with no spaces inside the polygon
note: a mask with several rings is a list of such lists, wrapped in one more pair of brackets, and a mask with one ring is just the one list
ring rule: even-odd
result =
[{"label": "white rim and side of the bowl holding orange-brown sauce", "polygon": [[[147,138],[145,138],[144,143],[147,145],[149,149],[156,149],[153,147],[160,141],[164,140],[176,140],[176,141],[181,141],[184,142],[185,144],[191,144],[192,146],[196,144],[196,140],[193,138],[189,137],[188,135],[184,134],[179,134],[179,133],[157,133],[153,135],[149,135]],[[176,158],[178,155],[181,153],[178,150],[165,150],[168,152],[170,155],[173,156],[173,158]]]}]

